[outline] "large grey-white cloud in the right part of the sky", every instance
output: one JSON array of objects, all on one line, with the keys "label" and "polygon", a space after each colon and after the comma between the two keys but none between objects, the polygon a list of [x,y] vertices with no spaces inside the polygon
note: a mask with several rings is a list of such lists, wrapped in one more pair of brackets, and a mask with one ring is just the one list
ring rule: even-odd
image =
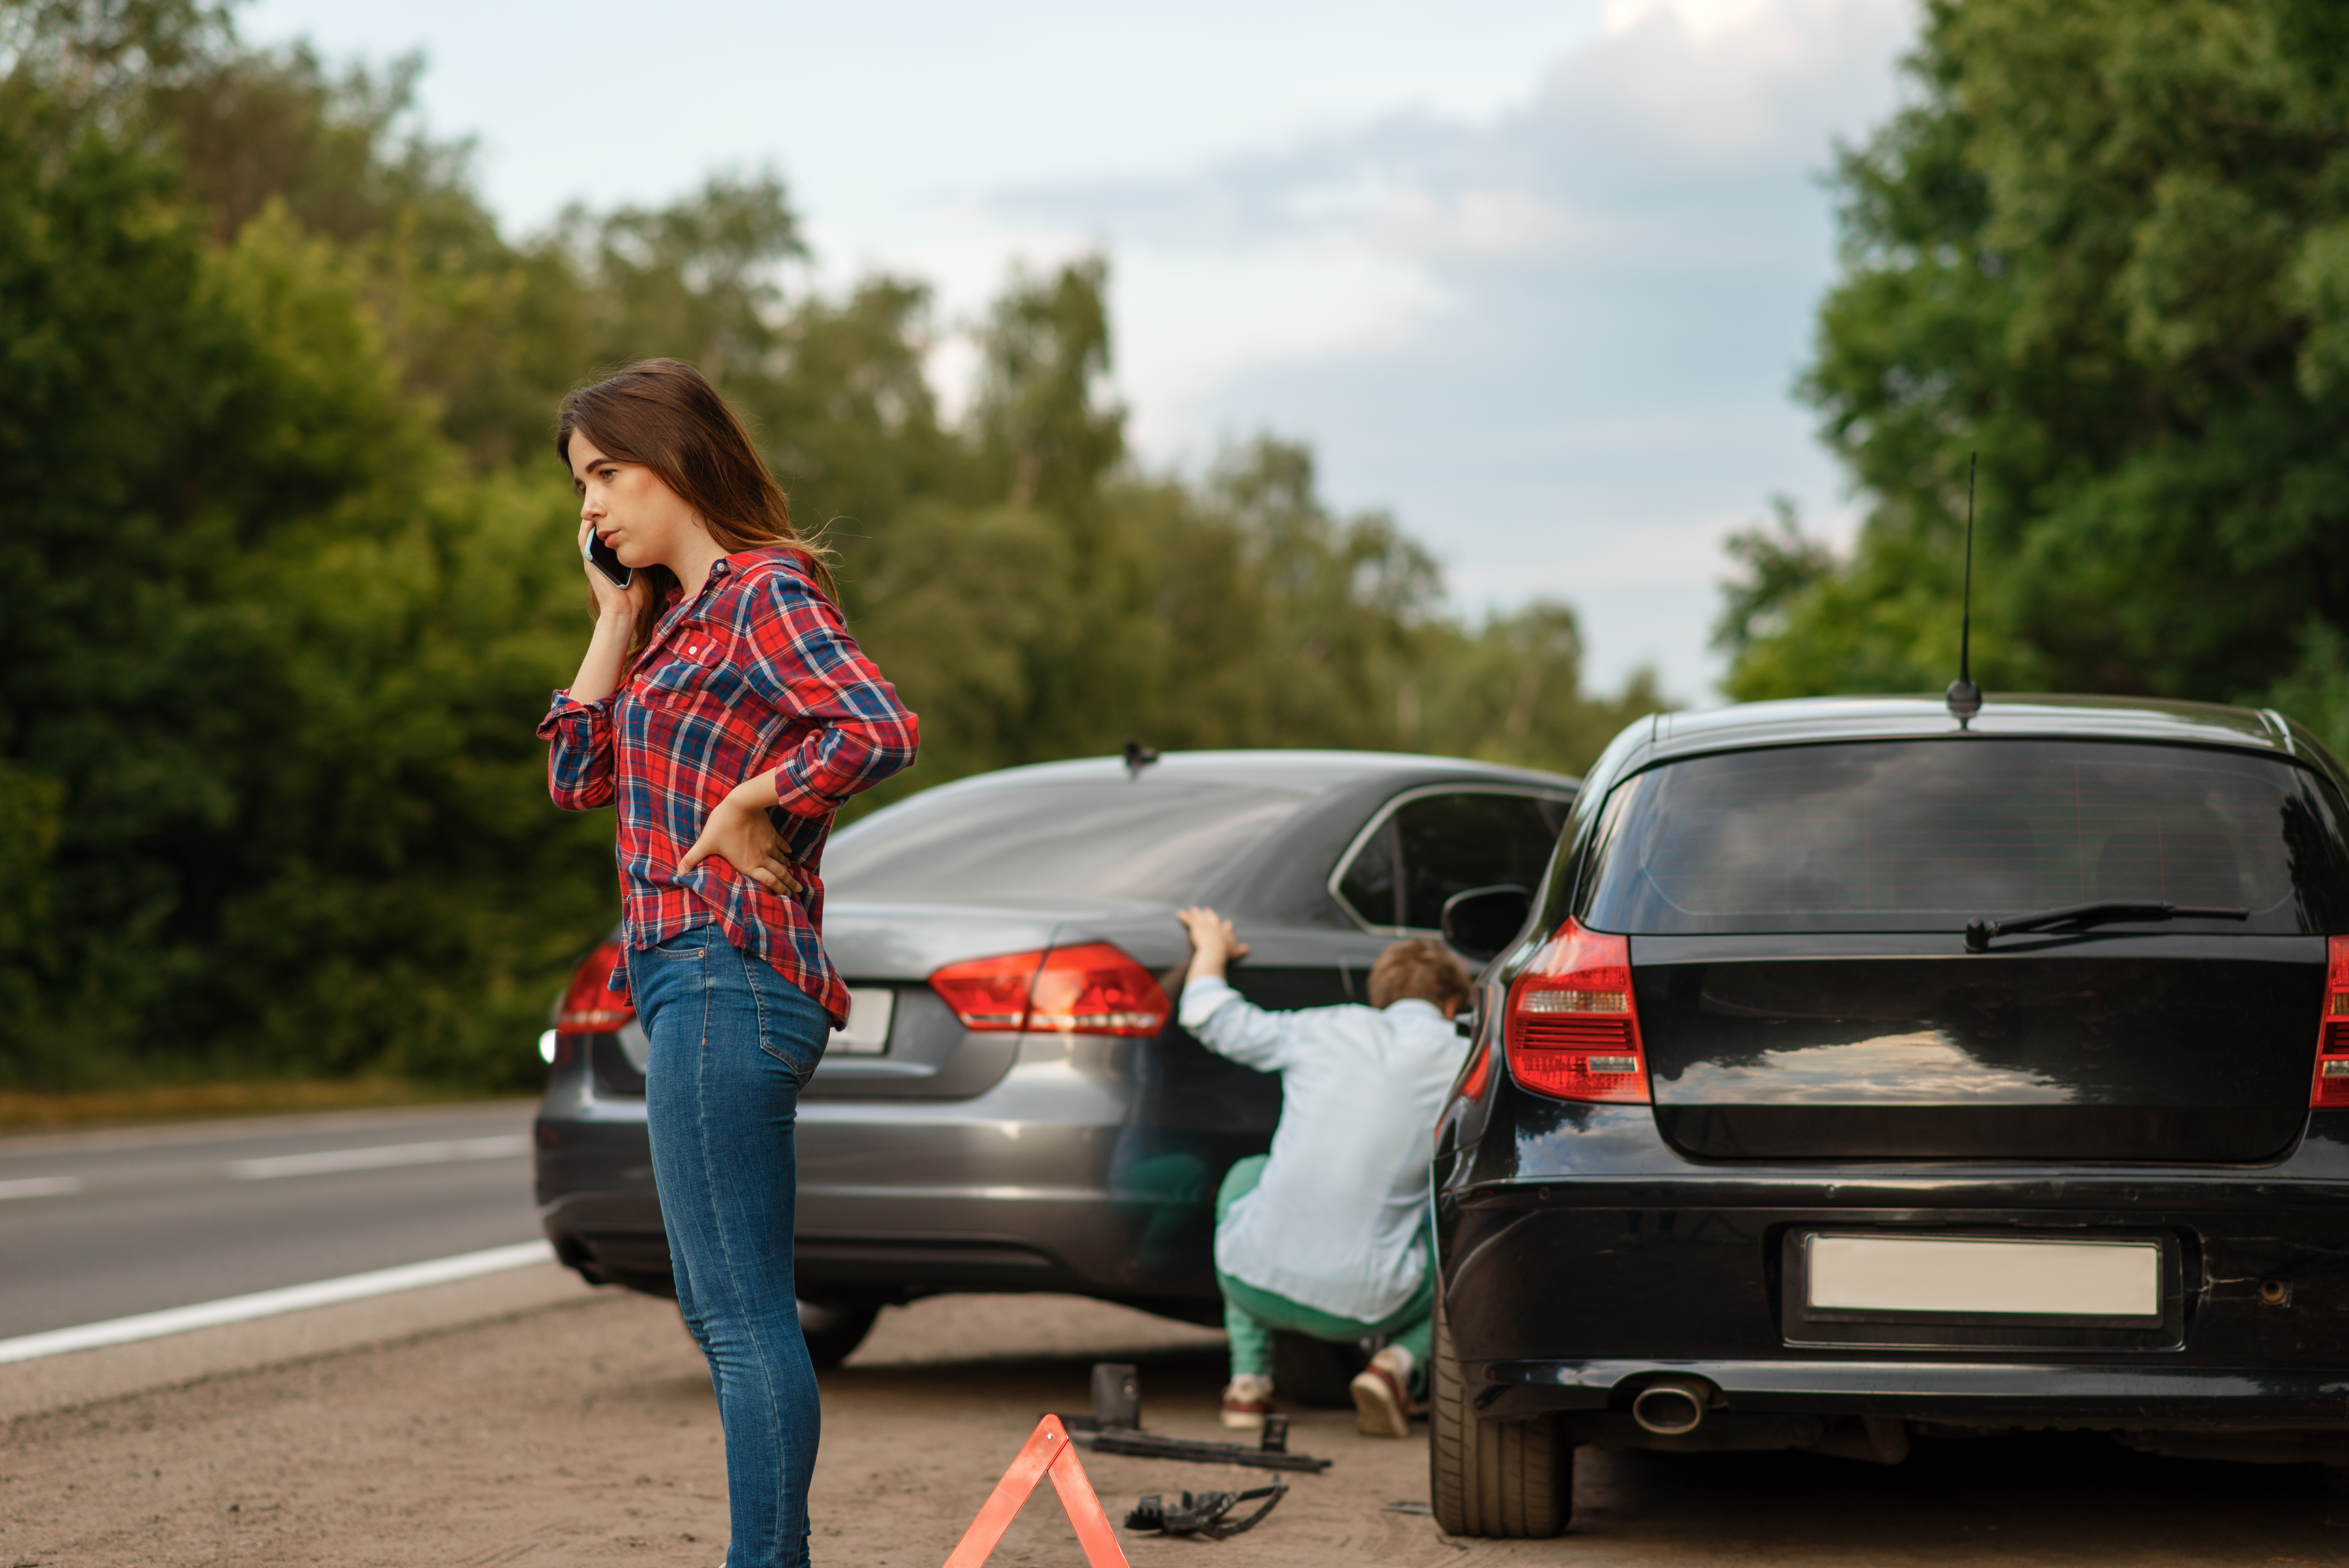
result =
[{"label": "large grey-white cloud in the right part of the sky", "polygon": [[996,200],[1116,258],[1146,453],[1273,425],[1470,603],[1564,596],[1593,667],[1712,681],[1719,542],[1851,507],[1788,392],[1830,282],[1818,174],[1896,101],[1907,0],[1616,5],[1482,120],[1405,110],[1182,178]]}]

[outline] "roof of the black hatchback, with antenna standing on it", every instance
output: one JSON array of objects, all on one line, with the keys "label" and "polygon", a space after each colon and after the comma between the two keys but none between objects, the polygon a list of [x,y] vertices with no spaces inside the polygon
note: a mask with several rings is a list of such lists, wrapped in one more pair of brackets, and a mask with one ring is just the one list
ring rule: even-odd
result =
[{"label": "roof of the black hatchback, with antenna standing on it", "polygon": [[[1743,751],[1837,739],[1929,739],[1943,735],[2142,739],[2227,746],[2309,758],[2309,744],[2279,714],[2220,702],[2159,697],[1990,695],[1971,723],[1940,697],[1795,697],[1694,714],[1658,714],[1640,763],[1701,751]],[[2314,758],[2309,758],[2314,761]]]}]

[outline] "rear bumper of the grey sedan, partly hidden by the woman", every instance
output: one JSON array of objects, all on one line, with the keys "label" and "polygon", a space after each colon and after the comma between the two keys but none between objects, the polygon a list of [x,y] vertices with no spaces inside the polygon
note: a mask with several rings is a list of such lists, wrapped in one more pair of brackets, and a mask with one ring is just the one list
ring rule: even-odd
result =
[{"label": "rear bumper of the grey sedan, partly hidden by the woman", "polygon": [[[803,1099],[801,1293],[1069,1291],[1214,1317],[1214,1188],[1266,1134],[1144,1124],[1120,1073],[1130,1049],[1031,1040],[963,1101]],[[644,1099],[559,1068],[538,1127],[540,1223],[557,1253],[658,1286],[667,1237]]]}]

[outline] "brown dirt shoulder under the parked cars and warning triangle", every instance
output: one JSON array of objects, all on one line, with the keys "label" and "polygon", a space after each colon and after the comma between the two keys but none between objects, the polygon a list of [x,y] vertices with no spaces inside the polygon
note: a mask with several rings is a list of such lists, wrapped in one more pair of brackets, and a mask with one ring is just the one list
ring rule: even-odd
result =
[{"label": "brown dirt shoulder under the parked cars and warning triangle", "polygon": [[[1219,1434],[1214,1333],[1066,1298],[940,1298],[883,1314],[864,1350],[824,1376],[817,1561],[942,1563],[1036,1415],[1085,1406],[1097,1359],[1142,1366],[1149,1427]],[[1919,1444],[1900,1469],[1586,1451],[1576,1533],[1555,1542],[1449,1542],[1426,1516],[1391,1512],[1426,1498],[1426,1446],[1355,1437],[1351,1413],[1299,1415],[1292,1446],[1337,1462],[1297,1479],[1254,1533],[1221,1545],[1128,1537],[1130,1559],[2349,1561],[2349,1502],[2326,1472],[2154,1460],[2091,1437]],[[1142,1493],[1236,1491],[1261,1476],[1116,1455],[1085,1465],[1111,1516]],[[200,1373],[0,1427],[0,1568],[712,1568],[723,1545],[700,1357],[667,1303],[618,1291],[573,1289],[498,1322]],[[1078,1561],[1050,1491],[994,1561]]]}]

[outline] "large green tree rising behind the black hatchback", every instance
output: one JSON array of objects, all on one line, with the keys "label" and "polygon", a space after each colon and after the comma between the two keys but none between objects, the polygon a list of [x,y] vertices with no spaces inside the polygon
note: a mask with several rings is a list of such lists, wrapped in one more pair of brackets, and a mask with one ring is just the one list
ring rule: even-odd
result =
[{"label": "large green tree rising behind the black hatchback", "polygon": [[1926,7],[1917,101],[1839,162],[1804,380],[1867,519],[1832,566],[1745,535],[1731,695],[1947,683],[1973,448],[1985,685],[2311,690],[2349,624],[2344,45],[2318,0]]}]

